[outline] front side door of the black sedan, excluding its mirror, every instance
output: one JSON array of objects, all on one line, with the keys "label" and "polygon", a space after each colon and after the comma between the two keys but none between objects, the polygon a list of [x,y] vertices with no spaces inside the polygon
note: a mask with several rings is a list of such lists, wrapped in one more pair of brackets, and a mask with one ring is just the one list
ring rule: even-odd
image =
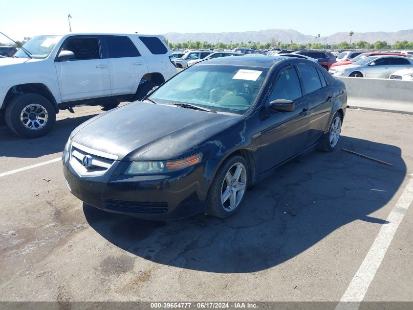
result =
[{"label": "front side door of the black sedan, excluding its mirror", "polygon": [[[293,100],[291,112],[269,110],[275,99]],[[264,109],[261,112],[260,173],[276,167],[304,150],[308,136],[308,100],[302,97],[302,88],[294,66],[287,66],[275,78]]]}]

